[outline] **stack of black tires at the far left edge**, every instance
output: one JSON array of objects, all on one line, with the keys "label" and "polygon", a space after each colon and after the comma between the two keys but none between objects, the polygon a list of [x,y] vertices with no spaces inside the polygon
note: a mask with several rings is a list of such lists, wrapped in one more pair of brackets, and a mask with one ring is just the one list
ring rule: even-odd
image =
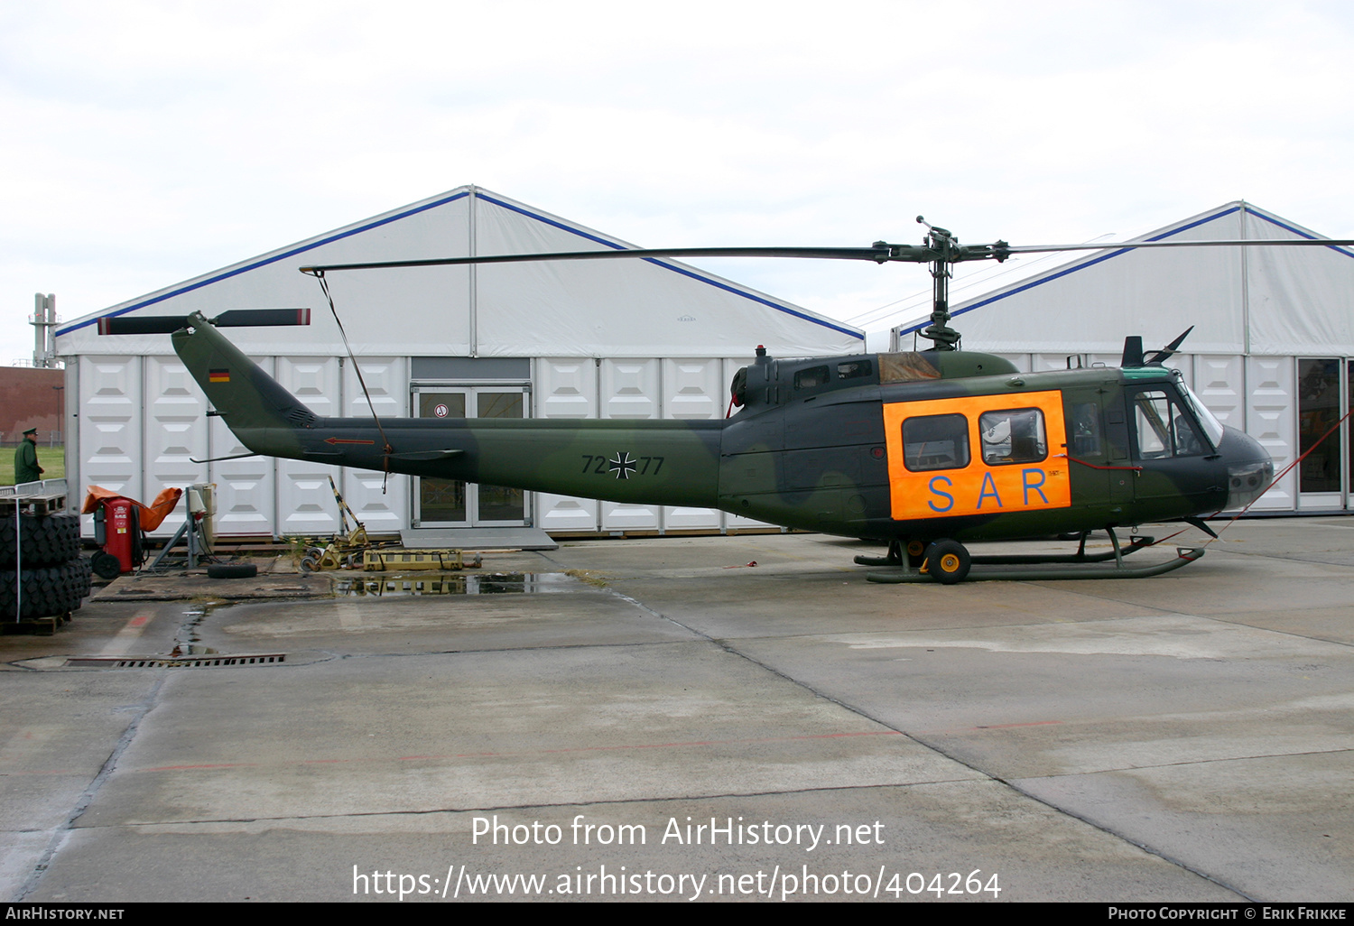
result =
[{"label": "stack of black tires at the far left edge", "polygon": [[[89,560],[80,556],[80,516],[0,513],[0,621],[53,617],[89,594]],[[18,554],[18,555],[16,555]],[[18,598],[18,602],[15,601]]]}]

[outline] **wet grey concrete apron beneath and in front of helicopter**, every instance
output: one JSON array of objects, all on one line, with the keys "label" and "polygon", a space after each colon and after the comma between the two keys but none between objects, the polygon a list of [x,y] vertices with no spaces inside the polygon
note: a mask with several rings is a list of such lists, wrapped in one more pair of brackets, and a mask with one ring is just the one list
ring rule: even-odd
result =
[{"label": "wet grey concrete apron beneath and in front of helicopter", "polygon": [[[881,586],[877,548],[766,535],[486,559],[550,574],[523,590],[87,604],[0,638],[0,889],[1350,900],[1345,528],[1243,523],[1139,582]],[[60,667],[176,643],[287,659]]]}]

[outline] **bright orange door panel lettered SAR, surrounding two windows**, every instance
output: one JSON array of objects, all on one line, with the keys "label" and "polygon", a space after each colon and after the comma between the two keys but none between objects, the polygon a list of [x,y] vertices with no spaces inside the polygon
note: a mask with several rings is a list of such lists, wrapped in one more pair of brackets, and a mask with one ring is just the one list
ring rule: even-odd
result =
[{"label": "bright orange door panel lettered SAR, surrounding two windows", "polygon": [[[1029,462],[986,463],[980,452],[979,416],[986,412],[1039,409],[1044,417],[1045,455]],[[926,416],[964,416],[967,460],[945,467],[910,470],[903,452],[903,424]],[[952,420],[953,421],[953,420]],[[886,402],[884,439],[888,448],[888,486],[895,521],[960,514],[1001,514],[1044,508],[1068,508],[1067,429],[1063,394],[1003,393],[964,395],[926,402]],[[919,455],[918,455],[919,456]]]}]

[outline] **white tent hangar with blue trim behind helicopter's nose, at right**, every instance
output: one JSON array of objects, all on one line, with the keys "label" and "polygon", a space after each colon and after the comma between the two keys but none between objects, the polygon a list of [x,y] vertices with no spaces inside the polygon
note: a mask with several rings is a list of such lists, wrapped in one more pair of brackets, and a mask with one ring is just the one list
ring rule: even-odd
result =
[{"label": "white tent hangar with blue trim behind helicopter's nose, at right", "polygon": [[[1322,238],[1233,202],[1151,234],[1156,240]],[[1163,347],[1190,325],[1167,363],[1224,422],[1261,440],[1275,471],[1350,409],[1354,386],[1354,253],[1345,248],[1164,248],[1093,252],[956,303],[964,347],[1021,370],[1118,366],[1124,337]],[[894,329],[911,345],[925,324]],[[1270,510],[1351,506],[1349,425],[1261,498]]]}]

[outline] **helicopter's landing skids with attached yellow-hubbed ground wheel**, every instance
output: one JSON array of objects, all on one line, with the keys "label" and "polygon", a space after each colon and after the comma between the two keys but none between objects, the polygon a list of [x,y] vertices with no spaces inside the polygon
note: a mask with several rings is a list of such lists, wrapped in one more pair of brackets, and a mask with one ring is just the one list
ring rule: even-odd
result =
[{"label": "helicopter's landing skids with attached yellow-hubbed ground wheel", "polygon": [[[938,540],[926,548],[923,556],[904,551],[900,540],[891,540],[887,556],[856,556],[860,566],[887,566],[887,573],[868,573],[871,582],[903,583],[903,582],[941,582],[953,585],[965,578],[972,581],[1028,581],[1028,579],[1094,579],[1094,578],[1147,578],[1148,575],[1162,575],[1192,563],[1204,555],[1202,547],[1177,547],[1175,558],[1164,563],[1152,566],[1125,566],[1124,556],[1152,546],[1152,537],[1133,537],[1128,547],[1121,547],[1113,528],[1108,528],[1113,550],[1101,554],[1086,552],[1086,535],[1080,537],[1080,544],[1075,554],[1028,554],[1006,556],[971,556],[964,547],[953,540]],[[913,544],[915,547],[915,544]],[[932,563],[936,569],[932,569]],[[979,570],[969,573],[969,565],[976,566],[1037,566],[1060,565],[1075,566],[1080,563],[1108,563],[1113,566],[1098,569],[1021,569],[1021,570]]]}]

